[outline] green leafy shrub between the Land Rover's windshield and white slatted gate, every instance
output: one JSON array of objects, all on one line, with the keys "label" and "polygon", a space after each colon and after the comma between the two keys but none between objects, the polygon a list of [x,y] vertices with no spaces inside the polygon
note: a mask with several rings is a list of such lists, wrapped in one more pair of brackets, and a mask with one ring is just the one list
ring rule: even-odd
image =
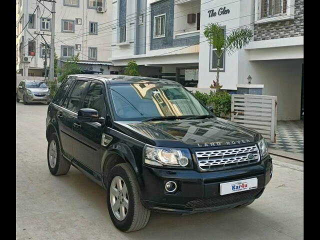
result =
[{"label": "green leafy shrub between the Land Rover's windshield and white slatted gate", "polygon": [[205,105],[212,106],[216,116],[227,117],[231,112],[231,94],[227,91],[210,91],[209,93],[195,91],[192,94]]}]

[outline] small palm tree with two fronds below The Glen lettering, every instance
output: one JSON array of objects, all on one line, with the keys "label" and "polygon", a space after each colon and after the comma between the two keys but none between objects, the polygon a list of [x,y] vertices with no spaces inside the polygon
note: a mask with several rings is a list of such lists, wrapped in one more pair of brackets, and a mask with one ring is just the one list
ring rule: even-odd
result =
[{"label": "small palm tree with two fronds below The Glen lettering", "polygon": [[247,45],[253,36],[252,30],[248,27],[237,28],[227,36],[224,36],[223,28],[219,23],[208,23],[204,26],[203,34],[208,42],[216,48],[214,51],[217,57],[216,81],[213,80],[213,85],[211,84],[210,88],[216,88],[216,91],[219,91],[222,87],[222,85],[219,84],[220,57],[225,51],[230,55]]}]

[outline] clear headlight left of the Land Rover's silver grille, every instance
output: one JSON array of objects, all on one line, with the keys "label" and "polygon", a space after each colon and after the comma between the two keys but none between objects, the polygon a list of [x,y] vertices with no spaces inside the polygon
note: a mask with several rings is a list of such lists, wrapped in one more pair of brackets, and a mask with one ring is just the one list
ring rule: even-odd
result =
[{"label": "clear headlight left of the Land Rover's silver grille", "polygon": [[185,148],[168,148],[145,145],[143,161],[154,166],[192,167],[191,154]]}]

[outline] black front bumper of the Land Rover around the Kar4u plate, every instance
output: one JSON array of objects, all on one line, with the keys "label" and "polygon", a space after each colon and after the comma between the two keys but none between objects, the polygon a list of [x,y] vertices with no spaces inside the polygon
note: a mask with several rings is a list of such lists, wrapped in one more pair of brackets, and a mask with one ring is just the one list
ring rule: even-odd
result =
[{"label": "black front bumper of the Land Rover around the Kar4u plate", "polygon": [[[235,207],[259,197],[271,179],[272,158],[233,169],[198,172],[163,169],[143,165],[141,198],[143,205],[154,211],[190,214]],[[257,177],[257,188],[220,195],[220,183]],[[177,182],[178,190],[167,193],[164,184]]]}]

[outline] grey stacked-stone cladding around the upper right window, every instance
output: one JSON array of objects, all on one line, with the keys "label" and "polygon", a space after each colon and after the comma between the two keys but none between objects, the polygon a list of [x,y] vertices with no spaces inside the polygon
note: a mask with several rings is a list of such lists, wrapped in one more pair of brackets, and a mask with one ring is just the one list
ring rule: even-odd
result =
[{"label": "grey stacked-stone cladding around the upper right window", "polygon": [[254,24],[254,41],[303,36],[303,0],[295,0],[294,19]]}]

